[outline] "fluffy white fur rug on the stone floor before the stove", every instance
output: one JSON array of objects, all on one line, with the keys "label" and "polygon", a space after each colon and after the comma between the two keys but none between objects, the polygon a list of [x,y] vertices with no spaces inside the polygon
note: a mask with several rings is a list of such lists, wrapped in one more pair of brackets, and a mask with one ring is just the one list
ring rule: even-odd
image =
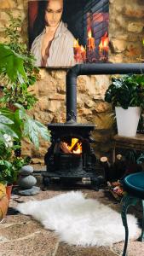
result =
[{"label": "fluffy white fur rug on the stone floor before the stove", "polygon": [[[20,203],[17,210],[40,221],[47,230],[55,230],[60,241],[81,246],[110,246],[124,240],[120,213],[81,192],[68,192],[43,201]],[[128,214],[130,238],[140,235],[136,218]]]}]

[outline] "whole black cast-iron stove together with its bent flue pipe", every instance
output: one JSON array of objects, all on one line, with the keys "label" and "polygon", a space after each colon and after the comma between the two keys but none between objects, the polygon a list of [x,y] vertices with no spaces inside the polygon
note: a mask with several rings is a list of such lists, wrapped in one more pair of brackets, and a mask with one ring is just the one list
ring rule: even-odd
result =
[{"label": "whole black cast-iron stove together with its bent flue pipe", "polygon": [[106,181],[107,175],[97,160],[90,135],[95,125],[77,123],[77,77],[91,74],[143,73],[144,64],[82,64],[72,67],[66,74],[66,123],[51,123],[51,146],[44,160],[47,171],[43,172],[43,184],[48,186],[50,178],[60,177],[68,180],[90,177],[97,186]]}]

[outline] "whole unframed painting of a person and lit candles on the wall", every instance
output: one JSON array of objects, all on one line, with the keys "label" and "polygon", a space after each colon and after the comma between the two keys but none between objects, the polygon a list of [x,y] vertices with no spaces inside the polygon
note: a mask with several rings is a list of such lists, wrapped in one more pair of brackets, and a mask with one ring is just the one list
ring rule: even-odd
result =
[{"label": "whole unframed painting of a person and lit candles on the wall", "polygon": [[108,0],[29,1],[28,20],[37,67],[108,61]]}]

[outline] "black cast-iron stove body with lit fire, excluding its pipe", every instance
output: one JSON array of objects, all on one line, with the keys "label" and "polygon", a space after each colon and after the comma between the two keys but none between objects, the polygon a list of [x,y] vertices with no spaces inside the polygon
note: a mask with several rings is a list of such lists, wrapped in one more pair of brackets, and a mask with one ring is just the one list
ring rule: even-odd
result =
[{"label": "black cast-iron stove body with lit fire, excluding its pipe", "polygon": [[95,177],[97,160],[89,137],[95,125],[66,123],[49,124],[48,127],[52,144],[45,155],[47,176]]}]

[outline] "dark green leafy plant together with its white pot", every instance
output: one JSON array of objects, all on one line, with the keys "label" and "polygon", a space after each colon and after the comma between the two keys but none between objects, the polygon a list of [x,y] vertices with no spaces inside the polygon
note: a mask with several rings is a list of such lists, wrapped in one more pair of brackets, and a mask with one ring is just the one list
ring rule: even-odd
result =
[{"label": "dark green leafy plant together with its white pot", "polygon": [[105,101],[115,109],[118,135],[135,137],[141,109],[144,108],[144,75],[123,75],[112,79]]}]

